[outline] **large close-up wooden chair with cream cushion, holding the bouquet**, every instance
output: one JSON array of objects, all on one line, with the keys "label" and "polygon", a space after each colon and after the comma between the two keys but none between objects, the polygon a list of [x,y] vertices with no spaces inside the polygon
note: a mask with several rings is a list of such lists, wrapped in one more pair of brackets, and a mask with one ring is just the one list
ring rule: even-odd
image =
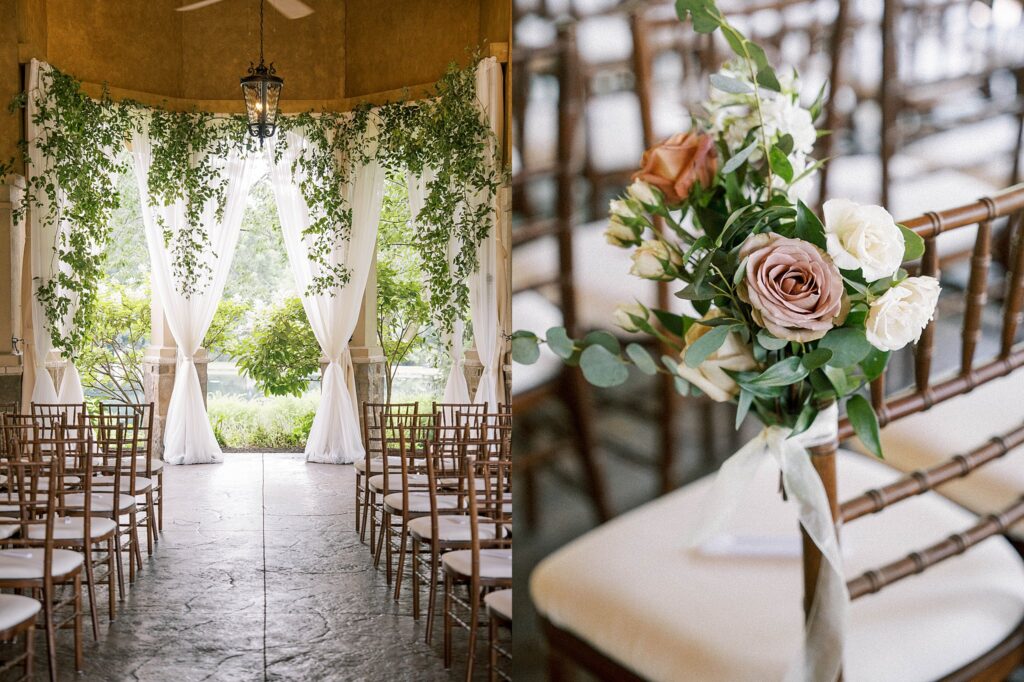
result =
[{"label": "large close-up wooden chair with cream cushion, holding the bouquet", "polygon": [[[1008,217],[1020,220],[1022,211],[1024,186],[1017,186],[905,223],[925,239],[920,269],[927,274],[938,272],[940,233],[975,229],[972,284],[964,296],[958,366],[951,372],[939,367],[936,341],[945,309],[940,308],[913,349],[913,385],[889,392],[884,375],[871,383],[882,424],[943,403],[966,404],[970,396],[965,394],[1024,366],[1020,248],[995,338],[989,342],[981,334],[993,224]],[[991,355],[978,361],[983,349]],[[961,428],[972,426],[961,422]],[[849,421],[840,420],[839,439],[852,434]],[[977,433],[978,441],[987,435]],[[909,475],[840,450],[837,441],[811,449],[811,462],[841,522],[841,543],[848,548],[845,573],[854,604],[844,643],[844,679],[1002,679],[1024,662],[1024,561],[998,538],[1024,519],[1022,489],[1006,507],[981,517],[934,492],[1022,443],[1024,429],[1018,428]],[[777,481],[777,471],[762,469],[728,530],[778,536],[788,528],[796,540],[796,511],[779,500]],[[555,653],[554,666],[571,659],[598,676],[630,680],[781,676],[804,636],[797,604],[803,601],[809,609],[814,603],[822,558],[806,539],[802,552],[793,543],[769,557],[748,553],[726,559],[714,548],[687,552],[678,523],[699,514],[710,484],[697,481],[634,510],[577,540],[534,572],[531,596]],[[953,557],[958,558],[946,561]],[[643,585],[630,585],[630,577],[638,574],[646,577]],[[890,589],[897,582],[900,587]],[[880,591],[885,594],[866,598]],[[608,613],[615,614],[614,621],[600,622],[598,614]],[[893,641],[900,642],[898,650],[892,649]],[[893,655],[882,653],[887,650]]]}]

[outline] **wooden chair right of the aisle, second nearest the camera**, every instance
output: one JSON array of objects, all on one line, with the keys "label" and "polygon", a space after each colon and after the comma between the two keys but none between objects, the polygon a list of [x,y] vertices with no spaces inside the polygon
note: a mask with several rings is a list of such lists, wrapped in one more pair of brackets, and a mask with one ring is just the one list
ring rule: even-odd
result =
[{"label": "wooden chair right of the aisle, second nearest the camera", "polygon": [[[469,511],[470,549],[441,555],[444,570],[444,666],[452,666],[452,630],[458,624],[469,630],[466,680],[473,679],[476,634],[486,593],[512,587],[512,462],[509,459],[466,458],[466,497]],[[484,528],[487,531],[484,531]],[[463,600],[456,586],[468,589]],[[455,610],[469,612],[469,623]]]}]

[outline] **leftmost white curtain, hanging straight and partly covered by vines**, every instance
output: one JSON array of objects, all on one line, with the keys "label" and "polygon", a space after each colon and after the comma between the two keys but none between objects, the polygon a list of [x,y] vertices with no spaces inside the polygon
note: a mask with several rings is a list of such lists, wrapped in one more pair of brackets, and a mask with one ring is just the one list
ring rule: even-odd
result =
[{"label": "leftmost white curtain, hanging straight and partly covered by vines", "polygon": [[[38,175],[45,172],[50,161],[42,153],[41,146],[45,143],[46,132],[36,125],[36,115],[38,106],[37,97],[44,100],[47,97],[46,79],[42,78],[50,66],[33,59],[29,66],[28,83],[28,129],[26,139],[29,141],[29,174]],[[53,378],[46,370],[46,360],[50,351],[53,350],[51,334],[54,331],[66,335],[71,328],[75,312],[78,309],[78,297],[72,295],[71,305],[65,316],[57,321],[54,330],[50,321],[46,317],[46,312],[39,302],[37,288],[60,270],[69,267],[67,264],[57,261],[56,248],[58,240],[73,225],[60,218],[62,206],[66,203],[63,194],[59,186],[55,187],[58,215],[51,213],[50,197],[46,187],[36,187],[35,191],[41,196],[37,197],[40,205],[33,205],[29,211],[29,230],[31,235],[30,261],[32,266],[33,295],[32,295],[32,357],[35,376],[34,388],[32,390],[33,402],[82,402],[84,394],[82,391],[82,380],[79,377],[78,369],[73,360],[63,361],[63,376],[60,380],[59,390],[53,383]],[[68,292],[63,292],[65,295]]]}]

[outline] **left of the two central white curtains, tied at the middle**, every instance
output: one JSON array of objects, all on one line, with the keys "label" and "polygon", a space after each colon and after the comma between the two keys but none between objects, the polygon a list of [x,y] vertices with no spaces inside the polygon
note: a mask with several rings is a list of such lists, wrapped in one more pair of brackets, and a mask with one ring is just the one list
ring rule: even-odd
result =
[{"label": "left of the two central white curtains, tied at the middle", "polygon": [[146,132],[134,134],[132,157],[153,267],[154,295],[164,309],[167,326],[178,346],[174,387],[164,425],[164,461],[169,464],[219,462],[222,453],[210,426],[195,357],[224,292],[242,228],[246,195],[255,179],[253,161],[244,154],[232,152],[227,159],[216,162],[222,165],[227,181],[224,211],[222,219],[218,220],[216,202],[208,202],[203,209],[203,226],[210,238],[210,249],[200,258],[209,270],[205,271],[199,291],[185,297],[178,291],[171,252],[164,243],[164,225],[176,231],[186,224],[185,203],[179,200],[170,206],[150,205],[153,147]]}]

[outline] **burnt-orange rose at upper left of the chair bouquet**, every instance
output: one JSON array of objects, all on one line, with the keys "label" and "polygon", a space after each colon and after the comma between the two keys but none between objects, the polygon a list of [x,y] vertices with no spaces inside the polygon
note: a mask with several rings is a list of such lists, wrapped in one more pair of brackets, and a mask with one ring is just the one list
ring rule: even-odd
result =
[{"label": "burnt-orange rose at upper left of the chair bouquet", "polygon": [[677,206],[689,197],[697,180],[700,186],[710,187],[717,170],[715,140],[710,135],[685,132],[644,152],[633,179],[657,187],[668,206]]}]

